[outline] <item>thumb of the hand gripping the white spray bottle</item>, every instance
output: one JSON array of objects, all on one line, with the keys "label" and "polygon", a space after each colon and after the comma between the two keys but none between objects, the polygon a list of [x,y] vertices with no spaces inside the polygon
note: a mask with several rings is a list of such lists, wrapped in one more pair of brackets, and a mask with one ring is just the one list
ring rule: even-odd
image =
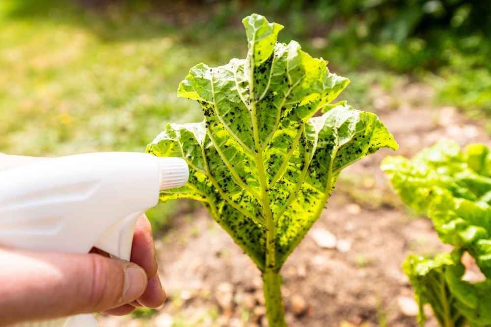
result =
[{"label": "thumb of the hand gripping the white spray bottle", "polygon": [[[97,254],[0,248],[0,326],[114,308],[139,298],[145,271]],[[5,325],[3,325],[5,324]]]}]

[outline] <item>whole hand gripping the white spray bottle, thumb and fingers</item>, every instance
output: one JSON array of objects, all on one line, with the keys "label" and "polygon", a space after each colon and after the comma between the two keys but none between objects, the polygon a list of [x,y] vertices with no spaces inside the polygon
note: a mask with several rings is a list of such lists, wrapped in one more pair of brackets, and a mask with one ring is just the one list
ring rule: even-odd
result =
[{"label": "whole hand gripping the white spray bottle, thumb and fingers", "polygon": [[[0,153],[0,171],[37,160],[43,158]],[[126,315],[138,306],[162,305],[165,292],[144,215],[136,222],[131,262],[111,259],[96,249],[91,252],[0,247],[0,327],[96,311]]]}]

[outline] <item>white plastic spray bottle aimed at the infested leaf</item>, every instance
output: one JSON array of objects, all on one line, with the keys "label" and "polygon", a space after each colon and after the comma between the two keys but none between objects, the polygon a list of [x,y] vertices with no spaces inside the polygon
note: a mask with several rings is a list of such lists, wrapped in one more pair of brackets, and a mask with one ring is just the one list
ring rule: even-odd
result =
[{"label": "white plastic spray bottle aimed at the infested leaf", "polygon": [[[136,220],[160,190],[188,182],[185,160],[101,152],[37,161],[0,172],[0,245],[130,259]],[[97,327],[93,315],[15,327]]]}]

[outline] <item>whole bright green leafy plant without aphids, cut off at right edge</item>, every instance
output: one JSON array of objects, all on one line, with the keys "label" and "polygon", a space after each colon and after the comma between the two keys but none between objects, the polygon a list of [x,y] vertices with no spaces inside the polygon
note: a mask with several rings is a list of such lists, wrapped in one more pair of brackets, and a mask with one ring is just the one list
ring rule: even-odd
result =
[{"label": "whole bright green leafy plant without aphids, cut off at right edge", "polygon": [[[461,151],[442,140],[411,160],[396,156],[382,162],[392,185],[409,206],[427,211],[438,237],[451,253],[435,258],[409,255],[403,270],[414,287],[423,326],[429,303],[442,327],[491,326],[491,155],[483,144]],[[486,279],[463,280],[461,258],[468,252]]]}]

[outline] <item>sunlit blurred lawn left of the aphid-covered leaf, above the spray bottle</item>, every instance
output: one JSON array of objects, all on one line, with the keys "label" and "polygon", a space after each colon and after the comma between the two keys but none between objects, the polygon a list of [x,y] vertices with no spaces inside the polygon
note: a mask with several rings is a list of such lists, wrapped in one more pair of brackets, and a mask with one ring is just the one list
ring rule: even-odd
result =
[{"label": "sunlit blurred lawn left of the aphid-covered leaf, above the spray bottle", "polygon": [[28,2],[36,1],[0,1],[5,153],[143,151],[167,123],[202,119],[198,103],[176,95],[193,65],[223,64],[246,51],[234,38],[223,46],[223,35],[127,20],[117,7],[108,19],[62,2]]}]

